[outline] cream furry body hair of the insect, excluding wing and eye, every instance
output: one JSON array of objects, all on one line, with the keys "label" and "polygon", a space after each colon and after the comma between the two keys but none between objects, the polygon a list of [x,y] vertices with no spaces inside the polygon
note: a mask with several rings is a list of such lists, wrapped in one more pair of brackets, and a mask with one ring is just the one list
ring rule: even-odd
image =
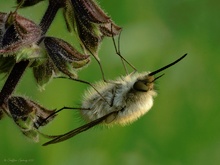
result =
[{"label": "cream furry body hair of the insect, excluding wing and eye", "polygon": [[89,88],[84,94],[82,109],[90,110],[81,110],[83,118],[90,122],[118,111],[117,116],[109,116],[104,124],[126,125],[137,120],[151,109],[153,97],[157,94],[155,90],[146,92],[133,90],[134,83],[145,79],[148,75],[149,72],[135,72],[119,77],[115,81],[107,83],[100,81],[94,84],[99,93]]}]

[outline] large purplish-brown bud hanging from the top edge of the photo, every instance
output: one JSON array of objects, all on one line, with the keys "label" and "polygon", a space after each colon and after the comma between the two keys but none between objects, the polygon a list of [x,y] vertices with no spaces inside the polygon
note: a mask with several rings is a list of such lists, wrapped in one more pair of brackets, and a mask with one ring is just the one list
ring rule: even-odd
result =
[{"label": "large purplish-brown bud hanging from the top edge of the photo", "polygon": [[67,29],[75,31],[84,50],[96,57],[103,37],[112,37],[121,31],[93,0],[66,0],[64,17]]}]

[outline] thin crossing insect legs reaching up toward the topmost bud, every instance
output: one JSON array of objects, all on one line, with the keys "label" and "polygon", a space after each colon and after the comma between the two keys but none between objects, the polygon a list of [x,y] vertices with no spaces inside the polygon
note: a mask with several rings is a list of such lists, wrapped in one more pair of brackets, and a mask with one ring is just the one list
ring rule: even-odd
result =
[{"label": "thin crossing insect legs reaching up toward the topmost bud", "polygon": [[[113,28],[112,26],[113,26],[113,25],[111,24],[111,31],[113,31],[113,30],[112,30],[112,28]],[[127,67],[125,66],[125,62],[126,62],[134,71],[137,71],[137,69],[121,55],[121,51],[120,51],[121,32],[122,32],[122,31],[119,32],[119,35],[118,35],[118,43],[117,43],[117,44],[116,44],[116,41],[115,41],[115,38],[114,38],[114,35],[113,35],[113,32],[112,32],[112,41],[113,41],[113,44],[114,44],[115,52],[116,52],[116,54],[121,58],[123,67],[124,67],[124,69],[125,69],[125,72],[126,72],[126,74],[128,74],[128,70],[127,70]],[[117,48],[117,45],[118,45],[118,48]]]}]

